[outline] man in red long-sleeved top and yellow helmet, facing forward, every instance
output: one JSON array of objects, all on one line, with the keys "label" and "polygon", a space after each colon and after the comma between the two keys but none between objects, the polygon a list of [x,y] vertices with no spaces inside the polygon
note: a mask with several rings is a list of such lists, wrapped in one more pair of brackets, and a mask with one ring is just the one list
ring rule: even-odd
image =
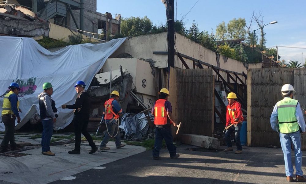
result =
[{"label": "man in red long-sleeved top and yellow helmet, facing forward", "polygon": [[[227,101],[229,105],[227,105],[226,109],[226,125],[225,128],[227,129],[225,132],[225,142],[227,148],[223,151],[233,151],[232,142],[230,140],[230,135],[235,131],[235,141],[237,146],[237,151],[235,154],[242,153],[242,146],[240,144],[240,130],[241,130],[241,122],[243,121],[242,117],[242,110],[241,104],[237,102],[237,96],[235,93],[231,92],[227,95]],[[234,124],[233,126],[227,128],[230,124]]]}]

